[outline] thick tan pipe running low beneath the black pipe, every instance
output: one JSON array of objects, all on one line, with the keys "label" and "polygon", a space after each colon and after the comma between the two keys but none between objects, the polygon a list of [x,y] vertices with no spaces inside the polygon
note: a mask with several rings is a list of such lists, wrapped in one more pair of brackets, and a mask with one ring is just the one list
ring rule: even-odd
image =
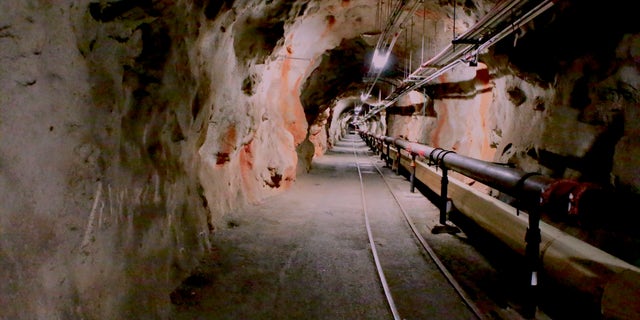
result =
[{"label": "thick tan pipe running low beneath the black pipe", "polygon": [[[402,165],[401,158],[409,160],[402,155],[403,148],[411,148],[405,150],[412,155],[427,154],[427,149],[418,148],[415,144],[396,143],[400,139],[388,136],[376,136],[376,139],[387,145],[387,157],[391,158],[391,154],[396,153],[395,158],[399,165]],[[392,143],[398,148],[397,151],[390,149]],[[449,153],[444,157],[446,158],[444,165],[449,166],[452,163],[451,159],[462,156]],[[416,164],[416,179],[434,192],[440,191],[441,175],[422,162],[418,161]],[[504,167],[496,171],[511,171],[511,174],[505,175],[511,176],[512,169]],[[553,185],[558,182],[531,174],[525,174],[521,179],[525,181],[531,179],[529,183],[523,183],[523,185],[530,184],[528,187],[530,190],[536,190],[541,186],[553,189]],[[515,252],[525,256],[529,252],[527,260],[532,271],[531,290],[537,290],[537,272],[543,271],[558,283],[585,294],[585,297],[590,297],[593,303],[599,303],[605,319],[640,318],[640,308],[637,307],[640,306],[640,268],[540,221],[539,212],[535,209],[530,210],[529,214],[517,215],[513,207],[478,192],[456,179],[449,181],[448,195],[456,203],[456,208],[460,212]],[[532,227],[529,219],[534,220],[533,227],[539,231],[534,232],[538,235],[537,237],[530,233],[528,241],[525,242],[523,235]],[[533,260],[532,257],[538,251],[540,251],[539,256],[536,254],[537,259]],[[533,303],[535,306],[535,301]]]}]

